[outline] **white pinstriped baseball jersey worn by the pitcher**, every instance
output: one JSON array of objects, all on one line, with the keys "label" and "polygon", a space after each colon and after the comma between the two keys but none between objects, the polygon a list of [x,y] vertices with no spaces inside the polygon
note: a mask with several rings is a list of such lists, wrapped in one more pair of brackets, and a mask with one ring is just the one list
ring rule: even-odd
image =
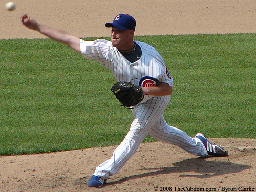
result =
[{"label": "white pinstriped baseball jersey worn by the pitcher", "polygon": [[[95,41],[81,39],[80,49],[85,58],[98,61],[110,69],[117,81],[129,82],[134,79],[132,82],[139,84],[143,77],[152,77],[156,81],[165,82],[173,86],[173,79],[169,76],[164,60],[156,49],[144,42],[135,42],[140,46],[142,56],[133,63],[128,61],[116,47],[113,47],[111,41],[105,39],[97,39]],[[145,96],[142,103],[151,97]]]}]

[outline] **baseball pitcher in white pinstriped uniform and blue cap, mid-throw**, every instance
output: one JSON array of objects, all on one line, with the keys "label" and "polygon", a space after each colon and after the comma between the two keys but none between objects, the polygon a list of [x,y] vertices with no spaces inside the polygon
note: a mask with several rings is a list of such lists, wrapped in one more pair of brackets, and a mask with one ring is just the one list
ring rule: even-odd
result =
[{"label": "baseball pitcher in white pinstriped uniform and blue cap, mid-throw", "polygon": [[144,98],[132,107],[134,120],[130,131],[113,156],[96,167],[95,173],[88,180],[89,187],[102,187],[109,176],[118,173],[146,135],[177,145],[197,156],[228,156],[222,147],[210,143],[203,134],[189,137],[166,123],[162,114],[170,101],[173,78],[154,47],[133,40],[136,21],[132,16],[119,14],[113,22],[105,24],[111,28],[111,41],[84,41],[65,31],[39,24],[26,14],[21,17],[21,21],[26,27],[67,44],[86,59],[98,61],[112,71],[117,81],[132,81],[142,88]]}]

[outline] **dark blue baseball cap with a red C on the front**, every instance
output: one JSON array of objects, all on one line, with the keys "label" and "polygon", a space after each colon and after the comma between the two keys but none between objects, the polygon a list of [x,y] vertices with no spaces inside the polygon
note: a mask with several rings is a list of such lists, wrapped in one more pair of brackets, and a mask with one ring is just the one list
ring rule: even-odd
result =
[{"label": "dark blue baseball cap with a red C on the front", "polygon": [[135,30],[136,21],[130,15],[119,14],[114,18],[112,23],[106,23],[105,26],[106,27],[114,26],[121,30],[127,30],[127,29]]}]

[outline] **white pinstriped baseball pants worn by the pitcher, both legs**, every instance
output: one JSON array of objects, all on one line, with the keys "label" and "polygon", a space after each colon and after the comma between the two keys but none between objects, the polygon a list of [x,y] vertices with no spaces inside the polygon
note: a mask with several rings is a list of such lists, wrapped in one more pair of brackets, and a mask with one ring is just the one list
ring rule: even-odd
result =
[{"label": "white pinstriped baseball pants worn by the pitcher, both legs", "polygon": [[170,96],[164,97],[154,97],[134,107],[132,112],[135,119],[130,131],[113,152],[111,159],[96,167],[94,175],[108,179],[109,176],[119,172],[148,134],[158,141],[174,144],[191,154],[198,156],[208,154],[198,138],[189,137],[185,132],[166,123],[162,113],[169,103]]}]

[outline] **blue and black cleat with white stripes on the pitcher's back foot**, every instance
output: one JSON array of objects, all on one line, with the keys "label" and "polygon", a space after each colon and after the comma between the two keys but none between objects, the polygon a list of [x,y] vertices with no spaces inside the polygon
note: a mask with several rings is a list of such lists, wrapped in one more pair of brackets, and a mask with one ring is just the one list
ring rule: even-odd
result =
[{"label": "blue and black cleat with white stripes on the pitcher's back foot", "polygon": [[203,135],[201,133],[198,133],[196,135],[196,137],[202,141],[202,143],[204,144],[204,146],[205,146],[205,148],[207,150],[208,155],[212,155],[212,156],[215,156],[215,157],[225,157],[225,156],[228,156],[228,153],[227,153],[227,151],[224,150],[224,148],[222,148],[219,145],[210,143],[206,139],[205,135]]}]

